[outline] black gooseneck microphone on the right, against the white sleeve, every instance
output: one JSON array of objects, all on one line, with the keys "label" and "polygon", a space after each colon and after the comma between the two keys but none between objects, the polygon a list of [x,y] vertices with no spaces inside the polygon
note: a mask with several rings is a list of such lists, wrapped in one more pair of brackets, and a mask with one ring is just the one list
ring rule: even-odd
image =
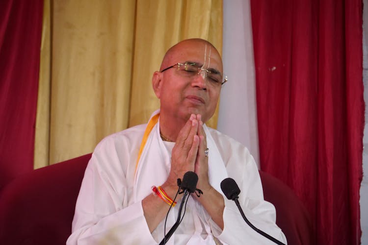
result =
[{"label": "black gooseneck microphone on the right, against the white sleeve", "polygon": [[271,237],[270,235],[268,235],[267,233],[263,232],[262,230],[258,229],[257,227],[255,227],[244,215],[243,210],[241,209],[241,206],[239,204],[239,194],[240,194],[240,189],[237,186],[237,182],[235,182],[234,179],[232,178],[226,178],[224,180],[221,181],[221,190],[222,192],[225,194],[226,198],[228,198],[229,200],[233,200],[235,201],[235,203],[237,204],[237,208],[240,211],[241,216],[243,217],[244,221],[255,231],[257,231],[259,234],[261,234],[262,236],[264,236],[265,238],[268,238],[269,240],[271,240],[272,242],[274,242],[275,244],[278,245],[285,245],[284,243],[280,242],[279,240]]}]

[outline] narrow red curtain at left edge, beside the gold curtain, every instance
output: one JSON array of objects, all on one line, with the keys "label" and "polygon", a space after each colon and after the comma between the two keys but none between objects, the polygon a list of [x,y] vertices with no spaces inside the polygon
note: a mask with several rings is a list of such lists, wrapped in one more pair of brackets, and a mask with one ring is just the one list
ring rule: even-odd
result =
[{"label": "narrow red curtain at left edge, beside the gold curtain", "polygon": [[0,0],[0,188],[33,169],[43,0]]}]

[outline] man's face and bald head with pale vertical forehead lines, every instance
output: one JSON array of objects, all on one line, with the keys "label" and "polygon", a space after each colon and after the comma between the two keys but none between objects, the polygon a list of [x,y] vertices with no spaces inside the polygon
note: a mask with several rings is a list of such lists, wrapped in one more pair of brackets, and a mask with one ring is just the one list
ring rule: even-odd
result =
[{"label": "man's face and bald head with pale vertical forehead lines", "polygon": [[[196,63],[196,66],[222,73],[222,61],[209,44],[188,40],[178,44],[164,59],[162,69],[177,63]],[[202,74],[202,75],[201,75]],[[190,114],[201,114],[202,121],[212,117],[221,90],[221,84],[206,79],[204,72],[187,76],[177,67],[159,73],[161,84],[156,92],[160,99],[161,114],[187,120]]]}]

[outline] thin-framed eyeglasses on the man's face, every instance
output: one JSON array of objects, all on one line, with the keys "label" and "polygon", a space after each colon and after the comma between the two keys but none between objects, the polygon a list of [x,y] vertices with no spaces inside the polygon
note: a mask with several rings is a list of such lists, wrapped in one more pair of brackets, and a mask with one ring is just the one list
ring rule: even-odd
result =
[{"label": "thin-framed eyeglasses on the man's face", "polygon": [[208,78],[207,80],[210,81],[214,85],[221,86],[222,84],[228,81],[227,76],[224,76],[224,79],[222,79],[223,74],[220,73],[219,71],[215,69],[207,70],[207,69],[204,69],[203,67],[198,67],[196,63],[184,63],[184,64],[177,63],[175,65],[172,65],[170,67],[163,69],[160,72],[163,73],[164,71],[170,68],[173,68],[173,67],[177,67],[180,74],[184,77],[193,77],[197,74],[204,72],[205,78]]}]

